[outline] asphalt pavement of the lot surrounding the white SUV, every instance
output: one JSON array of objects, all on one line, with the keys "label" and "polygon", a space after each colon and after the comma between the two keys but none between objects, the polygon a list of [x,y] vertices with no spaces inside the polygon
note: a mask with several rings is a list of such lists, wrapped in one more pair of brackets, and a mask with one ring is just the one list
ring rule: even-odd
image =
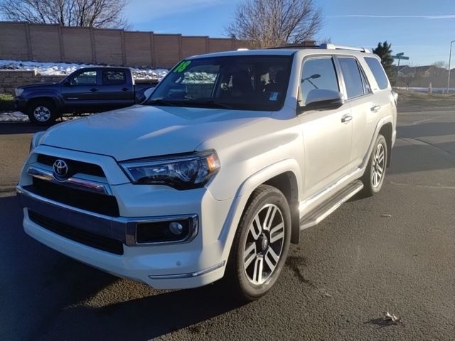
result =
[{"label": "asphalt pavement of the lot surrounding the white SUV", "polygon": [[9,190],[36,130],[0,124],[0,340],[455,338],[455,112],[400,114],[382,191],[301,232],[276,286],[247,305],[217,283],[156,291],[28,237]]}]

